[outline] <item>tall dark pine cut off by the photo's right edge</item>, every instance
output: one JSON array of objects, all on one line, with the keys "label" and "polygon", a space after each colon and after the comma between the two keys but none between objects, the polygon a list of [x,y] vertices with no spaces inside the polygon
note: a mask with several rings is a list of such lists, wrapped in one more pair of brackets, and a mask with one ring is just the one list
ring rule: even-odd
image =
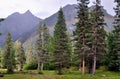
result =
[{"label": "tall dark pine cut off by the photo's right edge", "polygon": [[115,71],[120,71],[120,1],[115,0],[116,8],[115,10],[115,19],[114,19],[114,59],[113,59],[113,67],[115,67]]}]

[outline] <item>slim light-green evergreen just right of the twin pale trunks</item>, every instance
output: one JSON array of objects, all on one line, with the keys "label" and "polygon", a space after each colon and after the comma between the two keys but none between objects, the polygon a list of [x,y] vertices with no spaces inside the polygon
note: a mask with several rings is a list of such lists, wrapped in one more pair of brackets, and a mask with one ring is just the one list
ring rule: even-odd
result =
[{"label": "slim light-green evergreen just right of the twin pale trunks", "polygon": [[46,24],[43,24],[42,27],[42,31],[43,31],[43,50],[45,53],[45,59],[44,59],[44,68],[45,69],[49,69],[52,65],[52,59],[53,59],[53,52],[51,53],[51,38],[50,38],[50,33],[49,33],[49,29],[46,27]]}]

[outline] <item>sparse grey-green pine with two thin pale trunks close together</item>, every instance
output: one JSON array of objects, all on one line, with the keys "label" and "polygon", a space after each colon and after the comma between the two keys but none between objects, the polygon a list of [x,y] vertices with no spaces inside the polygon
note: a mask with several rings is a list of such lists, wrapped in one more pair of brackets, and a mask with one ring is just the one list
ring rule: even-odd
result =
[{"label": "sparse grey-green pine with two thin pale trunks close together", "polygon": [[40,25],[38,29],[38,40],[36,42],[37,60],[38,60],[38,73],[43,73],[43,66],[47,57],[47,45],[49,44],[49,30],[46,24]]}]

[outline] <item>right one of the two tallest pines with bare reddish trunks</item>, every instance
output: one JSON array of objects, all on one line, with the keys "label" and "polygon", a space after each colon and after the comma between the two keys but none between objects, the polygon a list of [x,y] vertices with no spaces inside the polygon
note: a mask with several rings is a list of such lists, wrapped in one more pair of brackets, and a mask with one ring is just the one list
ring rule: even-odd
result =
[{"label": "right one of the two tallest pines with bare reddish trunks", "polygon": [[106,32],[104,30],[104,15],[101,10],[100,0],[96,0],[94,9],[94,21],[93,21],[93,42],[92,42],[92,52],[93,52],[93,69],[92,75],[95,74],[97,58],[101,58],[103,53],[106,51]]}]

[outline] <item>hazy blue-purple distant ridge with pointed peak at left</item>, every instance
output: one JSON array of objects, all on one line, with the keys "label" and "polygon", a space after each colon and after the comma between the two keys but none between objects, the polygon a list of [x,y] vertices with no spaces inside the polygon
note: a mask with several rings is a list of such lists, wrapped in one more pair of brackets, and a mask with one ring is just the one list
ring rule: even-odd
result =
[{"label": "hazy blue-purple distant ridge with pointed peak at left", "polygon": [[29,32],[31,29],[37,27],[41,20],[29,10],[23,14],[18,12],[11,14],[4,21],[0,22],[0,32],[2,33],[0,36],[0,45],[4,44],[7,32],[11,33],[13,41],[15,41],[25,32]]}]

